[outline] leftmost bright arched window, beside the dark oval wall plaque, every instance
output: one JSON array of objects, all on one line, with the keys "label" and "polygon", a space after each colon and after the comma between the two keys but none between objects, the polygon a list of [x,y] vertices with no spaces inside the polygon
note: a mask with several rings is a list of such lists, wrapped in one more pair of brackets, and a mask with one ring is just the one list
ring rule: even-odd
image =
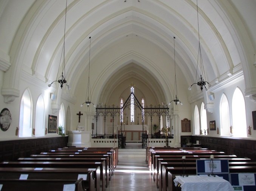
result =
[{"label": "leftmost bright arched window, beside the dark oval wall plaque", "polygon": [[22,95],[20,102],[19,137],[32,136],[31,129],[32,99],[28,89]]}]

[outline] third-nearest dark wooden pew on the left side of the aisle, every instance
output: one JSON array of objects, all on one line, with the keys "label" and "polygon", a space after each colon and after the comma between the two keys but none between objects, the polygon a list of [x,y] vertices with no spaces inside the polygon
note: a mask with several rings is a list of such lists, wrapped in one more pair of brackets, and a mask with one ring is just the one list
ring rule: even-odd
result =
[{"label": "third-nearest dark wooden pew on the left side of the aisle", "polygon": [[32,168],[97,168],[100,167],[100,179],[102,182],[102,190],[105,191],[106,172],[105,161],[102,162],[1,162],[0,167],[32,167]]}]

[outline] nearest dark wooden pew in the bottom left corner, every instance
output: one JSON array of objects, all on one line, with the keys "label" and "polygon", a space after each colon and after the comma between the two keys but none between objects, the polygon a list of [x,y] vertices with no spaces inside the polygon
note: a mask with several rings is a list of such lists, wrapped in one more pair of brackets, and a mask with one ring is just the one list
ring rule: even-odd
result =
[{"label": "nearest dark wooden pew in the bottom left corner", "polygon": [[62,191],[64,185],[75,184],[76,191],[85,191],[83,188],[83,179],[79,180],[19,180],[8,179],[0,180],[0,184],[3,185],[1,191],[10,190],[26,190],[26,191]]}]

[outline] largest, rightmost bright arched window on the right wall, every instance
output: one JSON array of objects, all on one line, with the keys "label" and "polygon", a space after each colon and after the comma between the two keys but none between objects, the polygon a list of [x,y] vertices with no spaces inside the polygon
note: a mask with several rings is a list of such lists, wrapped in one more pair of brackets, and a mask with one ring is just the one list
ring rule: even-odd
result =
[{"label": "largest, rightmost bright arched window on the right wall", "polygon": [[244,95],[236,88],[232,98],[233,135],[247,136]]}]

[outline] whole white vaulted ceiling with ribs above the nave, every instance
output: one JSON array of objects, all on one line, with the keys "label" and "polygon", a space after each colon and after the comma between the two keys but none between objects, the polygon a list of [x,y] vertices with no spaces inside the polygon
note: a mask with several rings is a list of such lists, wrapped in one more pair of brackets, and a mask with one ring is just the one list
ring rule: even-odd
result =
[{"label": "whole white vaulted ceiling with ribs above the nave", "polygon": [[[195,82],[199,44],[196,0],[67,2],[65,60],[71,95],[77,94],[78,83],[88,75],[89,36],[90,79],[97,100],[105,99],[103,95],[109,95],[130,75],[154,86],[152,91],[160,92],[159,99],[171,99],[174,36],[178,78],[185,88]],[[56,80],[65,6],[65,0],[0,1],[3,90],[14,89],[13,94],[18,94],[15,89],[24,73],[45,87]],[[202,58],[212,88],[244,74],[245,94],[256,94],[255,9],[255,0],[198,0]],[[60,73],[61,69],[58,76]],[[195,93],[191,91],[191,95]]]}]

